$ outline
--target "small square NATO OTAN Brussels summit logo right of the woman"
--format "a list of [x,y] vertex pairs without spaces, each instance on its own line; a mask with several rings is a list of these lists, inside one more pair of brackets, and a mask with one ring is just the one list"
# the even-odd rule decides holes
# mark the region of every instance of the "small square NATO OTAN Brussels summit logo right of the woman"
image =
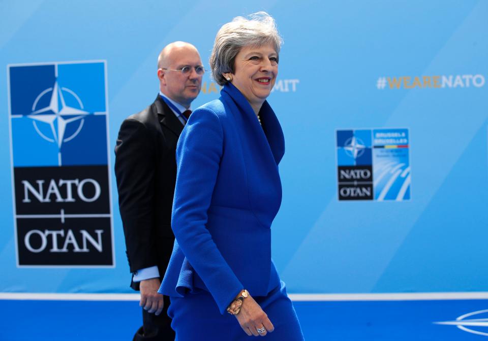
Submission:
[[408,129],[335,133],[339,200],[410,199]]

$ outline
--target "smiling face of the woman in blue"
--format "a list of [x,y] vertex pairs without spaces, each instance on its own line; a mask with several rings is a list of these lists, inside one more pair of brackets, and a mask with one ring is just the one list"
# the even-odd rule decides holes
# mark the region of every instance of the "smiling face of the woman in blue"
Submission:
[[278,76],[278,53],[269,45],[243,47],[235,57],[232,84],[257,112]]

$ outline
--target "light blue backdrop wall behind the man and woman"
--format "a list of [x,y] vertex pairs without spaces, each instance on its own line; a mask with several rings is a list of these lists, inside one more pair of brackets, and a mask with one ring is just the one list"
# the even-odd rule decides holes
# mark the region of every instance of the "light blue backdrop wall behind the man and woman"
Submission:
[[[53,0],[0,2],[0,292],[131,292],[113,174],[120,123],[156,97],[162,47],[175,40],[191,42],[208,67],[220,26],[262,10],[276,18],[285,41],[268,100],[286,141],[280,166],[283,203],[272,227],[272,252],[289,292],[486,291],[487,2]],[[17,199],[14,206],[12,167],[20,165],[17,148],[29,150],[36,142],[34,135],[23,138],[25,131],[35,131],[31,121],[15,122],[31,120],[28,115],[40,110],[41,101],[49,104],[49,93],[56,92],[53,82],[35,88],[32,84],[44,76],[25,69],[27,63],[54,65],[58,92],[67,98],[65,106],[74,108],[68,115],[78,121],[88,112],[103,117],[99,130],[88,130],[85,149],[78,147],[88,151],[88,158],[102,151],[93,163],[108,167],[111,179],[111,187],[106,179],[101,191],[109,194],[112,208],[100,213],[109,238],[102,243],[92,231],[92,242],[84,239],[95,257],[92,265],[52,266],[41,260],[33,266],[32,259],[27,264],[18,258],[25,231],[23,237],[16,231],[28,219],[14,219],[22,202]],[[98,76],[78,71],[67,81],[70,85],[60,84],[61,75],[77,64],[99,65]],[[15,73],[19,70],[25,71],[23,78]],[[105,101],[88,108],[89,96],[81,94],[96,91],[92,87]],[[23,103],[24,93],[28,110],[17,113],[15,103]],[[193,108],[218,96],[207,73]],[[88,129],[90,117],[82,128],[79,123],[71,132],[66,128],[66,134]],[[42,130],[41,123],[38,128],[47,137],[49,129]],[[53,130],[58,139],[59,129]],[[63,146],[76,141],[66,141],[67,136]],[[108,145],[89,142],[94,136]],[[56,149],[57,140],[43,141]],[[56,167],[56,161],[48,165]],[[95,196],[92,189],[87,196]],[[23,189],[17,191],[22,199]],[[43,206],[39,210],[39,215],[49,213]],[[62,226],[64,213],[55,214],[53,221]],[[49,219],[35,221],[27,229],[44,233],[51,228]],[[90,225],[80,224],[80,230]],[[47,242],[52,235],[45,234]],[[31,237],[31,247],[40,249],[40,234]],[[61,248],[68,234],[57,237]],[[109,250],[108,260],[97,263],[95,245],[100,243]],[[56,256],[73,253],[73,241],[67,246]]]

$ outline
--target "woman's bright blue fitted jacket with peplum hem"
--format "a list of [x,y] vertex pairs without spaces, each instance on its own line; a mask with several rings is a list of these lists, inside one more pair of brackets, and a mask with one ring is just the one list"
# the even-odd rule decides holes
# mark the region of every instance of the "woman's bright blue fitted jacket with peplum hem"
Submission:
[[266,133],[230,83],[190,116],[176,148],[176,241],[160,293],[205,290],[224,314],[240,290],[266,296],[280,285],[270,227],[281,205],[285,141],[267,101],[260,117]]

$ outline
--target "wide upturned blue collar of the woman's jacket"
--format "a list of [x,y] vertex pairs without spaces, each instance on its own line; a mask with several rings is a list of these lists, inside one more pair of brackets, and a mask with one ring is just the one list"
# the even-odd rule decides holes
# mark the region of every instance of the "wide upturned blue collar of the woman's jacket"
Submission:
[[272,156],[275,164],[278,165],[285,154],[285,138],[280,122],[278,122],[278,118],[268,102],[264,101],[259,111],[259,116],[266,128],[265,134],[248,100],[234,85],[231,83],[224,85],[221,91],[221,100],[225,101],[233,113],[240,112],[242,114],[242,120],[245,124],[241,128],[245,130],[248,137],[256,139],[263,150],[268,150],[271,154],[269,156]]

